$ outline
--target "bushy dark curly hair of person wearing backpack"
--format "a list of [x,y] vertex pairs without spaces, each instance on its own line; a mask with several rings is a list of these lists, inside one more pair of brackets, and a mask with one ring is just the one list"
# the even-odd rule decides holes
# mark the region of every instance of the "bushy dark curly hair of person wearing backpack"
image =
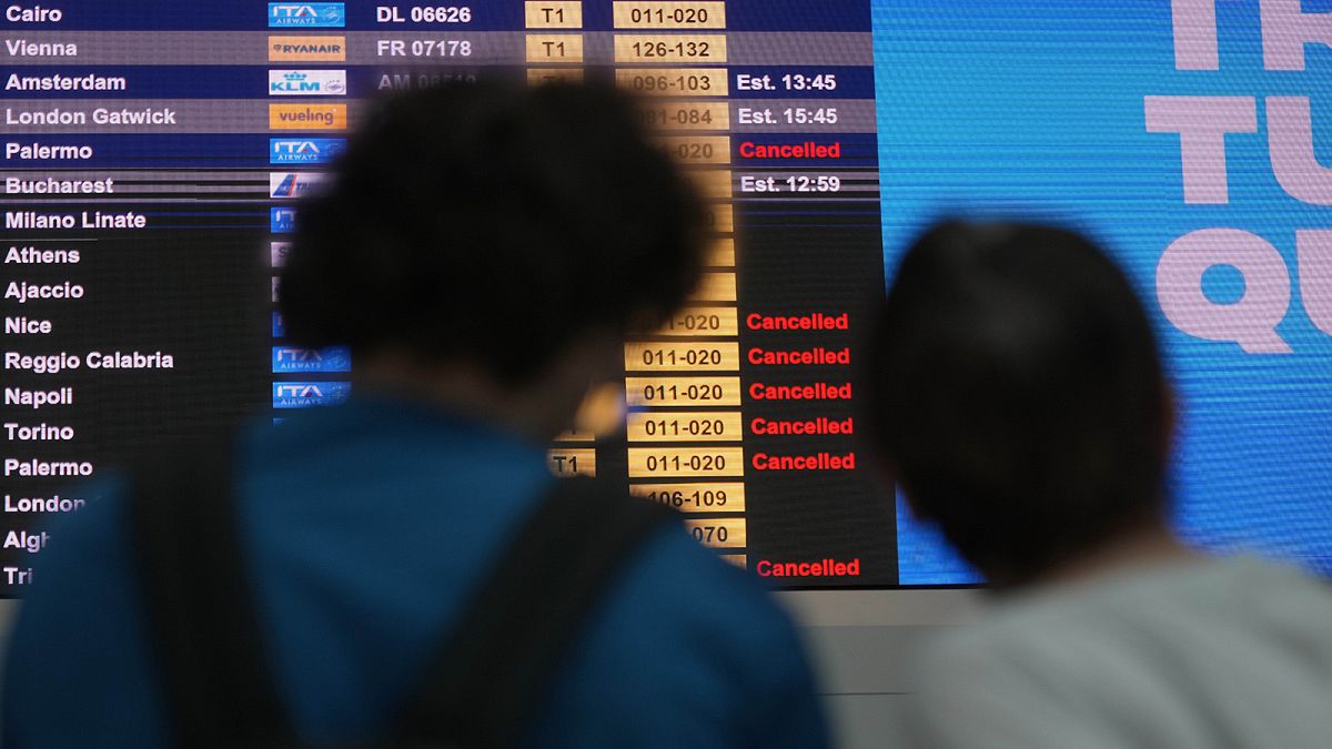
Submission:
[[699,276],[699,199],[610,88],[394,96],[333,172],[281,273],[297,345],[465,359],[518,384],[589,331],[669,315]]

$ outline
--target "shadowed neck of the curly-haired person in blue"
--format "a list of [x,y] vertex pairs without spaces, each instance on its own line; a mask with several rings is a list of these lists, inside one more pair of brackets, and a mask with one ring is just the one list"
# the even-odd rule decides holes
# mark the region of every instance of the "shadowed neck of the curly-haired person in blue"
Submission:
[[[530,440],[549,440],[577,405],[577,393],[557,384],[507,388],[466,363],[422,365],[408,357],[376,355],[357,363],[358,392],[408,397],[461,413]],[[574,405],[566,406],[566,401]]]

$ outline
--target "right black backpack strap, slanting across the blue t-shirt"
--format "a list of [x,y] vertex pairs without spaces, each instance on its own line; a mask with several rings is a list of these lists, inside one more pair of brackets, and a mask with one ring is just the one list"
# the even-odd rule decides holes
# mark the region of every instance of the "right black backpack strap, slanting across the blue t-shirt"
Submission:
[[599,481],[561,480],[482,580],[400,722],[400,745],[511,746],[562,656],[643,541],[679,514]]

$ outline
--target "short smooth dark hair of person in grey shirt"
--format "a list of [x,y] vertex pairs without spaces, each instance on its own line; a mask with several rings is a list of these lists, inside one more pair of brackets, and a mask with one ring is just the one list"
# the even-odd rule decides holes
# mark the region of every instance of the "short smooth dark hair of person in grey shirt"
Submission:
[[1171,405],[1119,268],[1066,229],[947,221],[903,257],[872,433],[918,514],[1022,582],[1163,518]]

